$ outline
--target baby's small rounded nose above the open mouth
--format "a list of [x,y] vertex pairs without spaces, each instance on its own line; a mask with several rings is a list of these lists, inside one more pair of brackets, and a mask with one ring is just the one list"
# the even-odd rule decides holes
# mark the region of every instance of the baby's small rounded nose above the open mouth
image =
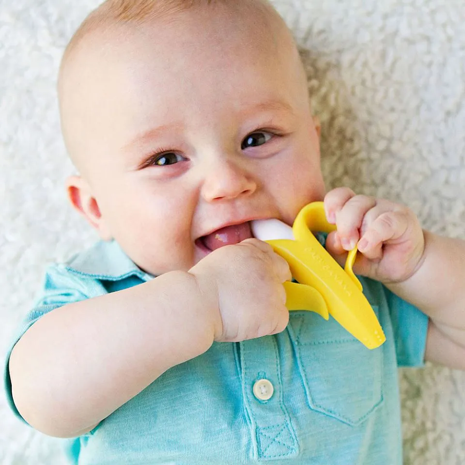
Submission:
[[217,159],[206,170],[202,197],[207,202],[233,200],[250,195],[257,188],[253,175],[241,166],[240,160]]

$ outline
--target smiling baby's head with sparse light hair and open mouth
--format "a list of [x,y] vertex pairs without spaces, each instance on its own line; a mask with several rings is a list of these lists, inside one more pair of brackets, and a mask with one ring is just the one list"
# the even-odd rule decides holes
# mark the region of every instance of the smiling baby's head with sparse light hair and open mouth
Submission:
[[109,0],[68,46],[59,95],[71,202],[151,274],[324,195],[307,79],[264,0]]

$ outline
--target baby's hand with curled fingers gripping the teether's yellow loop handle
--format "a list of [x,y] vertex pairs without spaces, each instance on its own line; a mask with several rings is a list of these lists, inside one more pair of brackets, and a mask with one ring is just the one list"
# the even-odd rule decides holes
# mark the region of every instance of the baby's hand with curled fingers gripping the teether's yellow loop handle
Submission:
[[325,196],[326,218],[337,226],[326,248],[343,264],[346,251],[357,245],[354,272],[385,284],[408,279],[419,267],[424,236],[416,215],[407,207],[338,187]]

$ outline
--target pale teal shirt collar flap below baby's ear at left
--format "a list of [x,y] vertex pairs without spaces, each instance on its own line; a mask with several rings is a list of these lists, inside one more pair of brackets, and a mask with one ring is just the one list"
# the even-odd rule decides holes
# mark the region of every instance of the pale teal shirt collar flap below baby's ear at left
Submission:
[[78,253],[67,263],[67,271],[95,279],[117,281],[137,276],[144,281],[154,276],[141,270],[115,240],[99,241],[91,248]]

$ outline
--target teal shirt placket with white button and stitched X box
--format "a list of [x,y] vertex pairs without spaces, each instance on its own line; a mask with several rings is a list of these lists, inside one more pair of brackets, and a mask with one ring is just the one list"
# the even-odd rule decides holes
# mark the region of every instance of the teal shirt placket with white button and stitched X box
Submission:
[[276,338],[267,336],[239,343],[242,388],[250,418],[254,458],[294,458],[298,443],[283,401]]

